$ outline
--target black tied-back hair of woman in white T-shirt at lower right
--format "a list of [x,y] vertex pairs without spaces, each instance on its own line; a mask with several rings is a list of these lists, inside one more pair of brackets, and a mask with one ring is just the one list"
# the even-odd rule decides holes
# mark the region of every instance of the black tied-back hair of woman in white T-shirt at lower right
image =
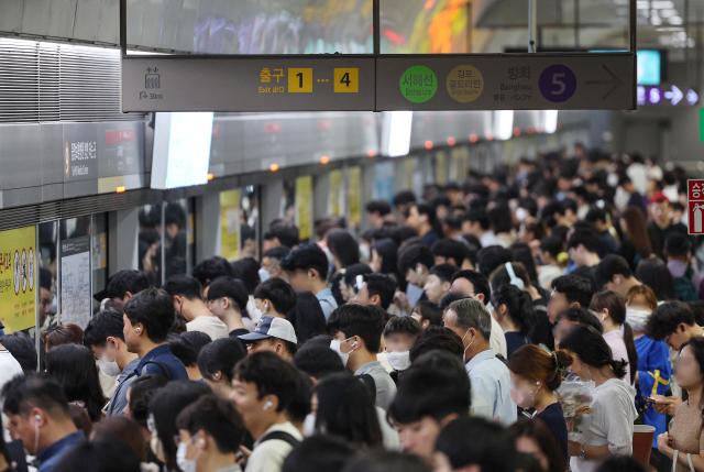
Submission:
[[560,341],[560,349],[570,351],[580,356],[580,360],[595,369],[609,366],[616,378],[626,375],[627,361],[614,361],[612,349],[608,347],[601,332],[592,327],[575,326],[568,336]]

